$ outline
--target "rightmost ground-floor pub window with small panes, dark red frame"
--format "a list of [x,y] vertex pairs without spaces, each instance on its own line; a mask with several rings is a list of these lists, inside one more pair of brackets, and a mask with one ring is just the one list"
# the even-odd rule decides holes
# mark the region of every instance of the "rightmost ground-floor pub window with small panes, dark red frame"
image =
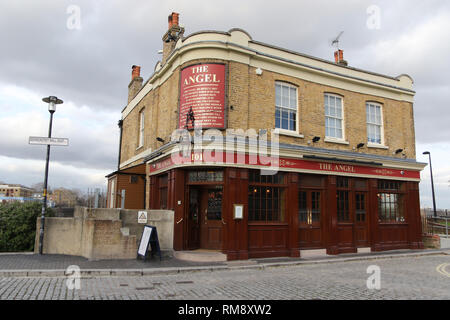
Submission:
[[378,181],[378,219],[380,222],[405,222],[404,196],[402,183],[397,181]]

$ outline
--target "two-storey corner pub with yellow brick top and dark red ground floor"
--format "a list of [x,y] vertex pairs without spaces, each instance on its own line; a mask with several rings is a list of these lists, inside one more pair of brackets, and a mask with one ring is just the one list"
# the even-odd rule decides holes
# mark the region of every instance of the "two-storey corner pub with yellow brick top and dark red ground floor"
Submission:
[[411,77],[178,20],[132,68],[109,207],[172,210],[174,250],[228,260],[423,248]]

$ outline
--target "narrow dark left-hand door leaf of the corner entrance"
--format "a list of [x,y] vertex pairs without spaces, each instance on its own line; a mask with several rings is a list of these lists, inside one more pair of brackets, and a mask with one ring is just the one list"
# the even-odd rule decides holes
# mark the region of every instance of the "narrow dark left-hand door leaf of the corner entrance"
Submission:
[[187,249],[194,250],[200,248],[200,190],[195,187],[189,188],[189,208],[188,208],[188,243]]

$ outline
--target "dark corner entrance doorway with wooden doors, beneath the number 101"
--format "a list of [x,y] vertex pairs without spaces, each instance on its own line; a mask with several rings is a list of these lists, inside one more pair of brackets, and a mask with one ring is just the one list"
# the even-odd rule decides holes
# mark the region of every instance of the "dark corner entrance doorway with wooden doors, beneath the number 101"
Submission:
[[188,249],[222,249],[222,186],[189,187]]

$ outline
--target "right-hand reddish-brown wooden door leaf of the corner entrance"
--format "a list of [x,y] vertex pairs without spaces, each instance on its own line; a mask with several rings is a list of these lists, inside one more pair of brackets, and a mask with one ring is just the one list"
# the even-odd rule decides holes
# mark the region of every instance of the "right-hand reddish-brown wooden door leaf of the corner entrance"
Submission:
[[221,186],[200,189],[200,247],[203,249],[222,249],[222,196]]

